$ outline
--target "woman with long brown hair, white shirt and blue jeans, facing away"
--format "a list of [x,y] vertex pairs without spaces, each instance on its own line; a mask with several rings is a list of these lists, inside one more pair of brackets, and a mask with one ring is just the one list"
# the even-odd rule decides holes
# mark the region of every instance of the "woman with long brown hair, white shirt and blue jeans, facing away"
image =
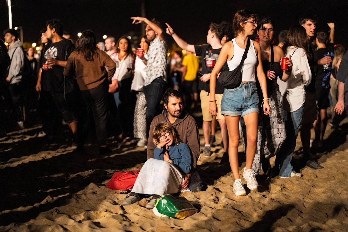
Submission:
[[309,47],[306,30],[301,25],[291,26],[283,46],[286,56],[291,56],[293,62],[292,72],[287,82],[278,80],[282,86],[283,108],[285,112],[286,139],[282,150],[276,157],[276,168],[279,168],[280,178],[293,176],[301,177],[296,173],[291,161],[296,146],[296,138],[301,127],[304,101],[306,92],[304,86],[308,86],[312,80],[308,59],[313,57]]

